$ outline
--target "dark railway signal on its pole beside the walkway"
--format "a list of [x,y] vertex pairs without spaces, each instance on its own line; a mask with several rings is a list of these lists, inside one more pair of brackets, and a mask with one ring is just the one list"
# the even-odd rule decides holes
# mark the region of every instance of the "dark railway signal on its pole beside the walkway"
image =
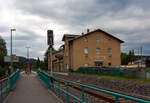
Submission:
[[53,69],[52,69],[52,49],[53,49],[53,30],[47,30],[47,44],[49,45],[49,54],[50,54],[50,69],[49,69],[49,73],[50,75],[53,75]]

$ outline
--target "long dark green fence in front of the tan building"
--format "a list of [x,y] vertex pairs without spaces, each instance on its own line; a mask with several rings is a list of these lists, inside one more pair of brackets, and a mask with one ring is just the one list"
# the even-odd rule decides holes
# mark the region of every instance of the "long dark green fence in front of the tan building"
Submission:
[[81,67],[76,72],[85,74],[145,79],[145,70],[138,69]]

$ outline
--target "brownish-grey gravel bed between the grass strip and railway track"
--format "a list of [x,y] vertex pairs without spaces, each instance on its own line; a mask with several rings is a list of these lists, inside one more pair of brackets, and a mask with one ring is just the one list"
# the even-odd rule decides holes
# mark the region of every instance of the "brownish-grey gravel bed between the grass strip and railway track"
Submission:
[[150,97],[150,83],[135,82],[131,80],[117,80],[104,79],[97,76],[83,76],[76,74],[60,75],[55,74],[56,77],[61,77],[71,81],[81,82],[83,84],[90,84],[99,88],[113,89],[133,96]]

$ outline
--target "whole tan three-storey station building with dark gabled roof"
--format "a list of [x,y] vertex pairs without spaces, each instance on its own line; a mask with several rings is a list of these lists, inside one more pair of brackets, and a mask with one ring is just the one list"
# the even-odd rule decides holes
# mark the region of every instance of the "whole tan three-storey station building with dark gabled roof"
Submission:
[[64,45],[53,52],[53,68],[57,70],[79,67],[120,66],[122,40],[97,29],[82,35],[64,34]]

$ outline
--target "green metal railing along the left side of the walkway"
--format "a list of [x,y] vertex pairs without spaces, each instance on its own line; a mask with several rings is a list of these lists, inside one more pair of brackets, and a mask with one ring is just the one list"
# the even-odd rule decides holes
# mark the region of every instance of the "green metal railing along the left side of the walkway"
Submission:
[[17,69],[16,72],[11,74],[9,77],[0,80],[0,103],[4,102],[4,98],[8,96],[8,92],[13,90],[17,80],[19,79],[20,71]]

